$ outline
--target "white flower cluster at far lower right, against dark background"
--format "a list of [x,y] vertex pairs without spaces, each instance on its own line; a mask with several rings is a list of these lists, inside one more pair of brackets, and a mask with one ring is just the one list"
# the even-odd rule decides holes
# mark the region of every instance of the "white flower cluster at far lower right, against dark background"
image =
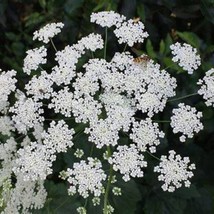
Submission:
[[169,151],[169,157],[162,155],[161,162],[154,168],[154,172],[158,172],[159,181],[163,181],[162,189],[168,192],[174,192],[176,188],[180,188],[183,183],[185,187],[190,187],[189,178],[193,176],[192,170],[195,164],[189,164],[189,157],[181,158],[176,155],[175,151]]

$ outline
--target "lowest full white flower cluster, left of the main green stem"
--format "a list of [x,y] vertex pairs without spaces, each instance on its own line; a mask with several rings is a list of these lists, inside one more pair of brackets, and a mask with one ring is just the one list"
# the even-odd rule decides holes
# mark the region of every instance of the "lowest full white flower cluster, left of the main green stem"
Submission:
[[74,163],[73,169],[67,170],[69,194],[78,192],[84,198],[89,196],[89,192],[94,196],[101,195],[102,181],[106,180],[106,174],[98,159],[89,157],[87,160],[87,162],[81,160],[79,163]]

